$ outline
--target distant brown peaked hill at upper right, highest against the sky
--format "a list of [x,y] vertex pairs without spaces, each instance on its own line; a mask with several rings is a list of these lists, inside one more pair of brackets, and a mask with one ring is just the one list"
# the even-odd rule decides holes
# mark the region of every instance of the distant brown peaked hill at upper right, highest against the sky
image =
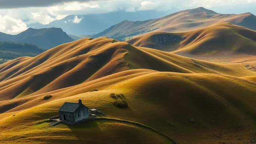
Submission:
[[256,30],[256,16],[251,13],[220,14],[212,10],[198,7],[172,13],[162,18],[146,21],[122,21],[111,26],[102,33],[92,37],[107,36],[122,40],[149,31],[153,32],[184,32],[207,27],[217,23],[233,23]]

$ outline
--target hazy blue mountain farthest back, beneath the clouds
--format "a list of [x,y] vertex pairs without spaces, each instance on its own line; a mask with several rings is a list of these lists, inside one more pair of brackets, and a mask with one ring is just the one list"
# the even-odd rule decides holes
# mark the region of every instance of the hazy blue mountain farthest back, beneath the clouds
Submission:
[[30,24],[33,28],[60,27],[69,34],[76,36],[85,34],[96,34],[121,21],[143,21],[152,18],[160,18],[171,13],[170,11],[146,10],[138,12],[117,11],[103,14],[78,15],[83,18],[80,23],[73,23],[75,15],[69,15],[61,20],[53,21],[50,24]]

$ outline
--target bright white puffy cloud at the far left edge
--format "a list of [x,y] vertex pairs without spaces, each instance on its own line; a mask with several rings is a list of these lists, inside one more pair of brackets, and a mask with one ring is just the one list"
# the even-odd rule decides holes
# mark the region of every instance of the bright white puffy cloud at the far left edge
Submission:
[[8,34],[17,34],[28,27],[23,21],[11,18],[7,15],[0,15],[0,31]]

